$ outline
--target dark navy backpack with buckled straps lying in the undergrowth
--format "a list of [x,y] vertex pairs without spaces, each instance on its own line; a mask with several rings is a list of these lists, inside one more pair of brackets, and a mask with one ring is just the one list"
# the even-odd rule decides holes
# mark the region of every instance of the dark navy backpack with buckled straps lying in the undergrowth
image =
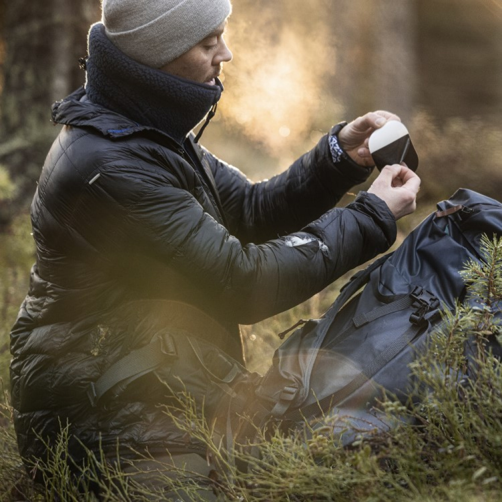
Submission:
[[[394,252],[352,277],[320,319],[283,342],[247,415],[290,426],[343,417],[344,444],[355,431],[392,427],[378,401],[384,392],[408,400],[409,363],[440,322],[440,310],[464,300],[459,271],[480,260],[482,234],[502,235],[502,204],[466,189],[438,203]],[[496,340],[489,343],[500,354]]]

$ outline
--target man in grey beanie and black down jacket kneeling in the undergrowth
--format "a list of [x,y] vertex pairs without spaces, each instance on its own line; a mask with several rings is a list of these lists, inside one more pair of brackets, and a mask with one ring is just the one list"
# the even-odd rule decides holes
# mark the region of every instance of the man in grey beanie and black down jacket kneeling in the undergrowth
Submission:
[[[415,208],[419,178],[395,165],[333,209],[371,173],[367,139],[397,119],[388,112],[335,126],[261,183],[199,145],[191,131],[210,119],[232,57],[230,11],[229,0],[104,0],[85,87],[53,106],[64,127],[33,199],[37,261],[11,337],[25,459],[45,457],[42,438],[54,443],[68,424],[77,462],[82,446],[106,458],[167,449],[202,460],[202,445],[159,406],[173,402],[167,363],[138,363],[128,378],[122,364],[118,385],[103,375],[171,328],[178,350],[188,333],[242,362],[239,324],[289,309],[384,252]],[[181,379],[197,375],[187,359]]]

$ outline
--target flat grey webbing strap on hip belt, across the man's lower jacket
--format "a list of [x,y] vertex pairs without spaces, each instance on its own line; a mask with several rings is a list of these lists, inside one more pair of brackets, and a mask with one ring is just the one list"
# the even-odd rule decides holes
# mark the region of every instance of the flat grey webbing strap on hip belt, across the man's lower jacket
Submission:
[[96,406],[104,394],[115,385],[120,382],[130,383],[140,378],[166,363],[169,356],[176,356],[176,347],[172,336],[168,333],[144,347],[131,351],[113,363],[96,382],[89,384],[87,396],[92,406]]

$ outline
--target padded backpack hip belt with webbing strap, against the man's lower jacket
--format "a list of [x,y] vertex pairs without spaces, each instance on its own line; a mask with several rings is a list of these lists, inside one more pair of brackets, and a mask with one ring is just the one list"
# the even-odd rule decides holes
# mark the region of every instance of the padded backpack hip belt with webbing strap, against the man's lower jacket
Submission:
[[[229,384],[245,371],[242,365],[219,348],[227,346],[231,339],[225,328],[192,305],[173,300],[135,300],[114,311],[111,319],[113,323],[120,320],[117,329],[128,331],[129,339],[141,339],[147,335],[151,338],[149,343],[133,350],[124,344],[118,359],[109,367],[103,368],[95,382],[87,385],[85,392],[92,406],[97,406],[99,400],[111,389],[114,397],[117,397],[141,376],[162,365],[169,368],[178,363],[178,352],[183,353],[186,345],[190,347],[198,360],[197,364],[206,371],[208,378],[227,390],[227,393]],[[221,352],[212,361],[214,364],[209,364],[213,371],[204,362],[202,342],[213,346],[217,353]],[[222,378],[214,373],[214,367],[217,367],[218,374],[223,375]]]

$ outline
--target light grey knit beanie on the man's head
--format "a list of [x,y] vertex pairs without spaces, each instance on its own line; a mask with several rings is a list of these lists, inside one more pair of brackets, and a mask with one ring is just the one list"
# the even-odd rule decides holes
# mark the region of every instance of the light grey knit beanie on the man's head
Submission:
[[230,15],[230,0],[103,0],[110,41],[130,58],[160,68],[197,45]]

